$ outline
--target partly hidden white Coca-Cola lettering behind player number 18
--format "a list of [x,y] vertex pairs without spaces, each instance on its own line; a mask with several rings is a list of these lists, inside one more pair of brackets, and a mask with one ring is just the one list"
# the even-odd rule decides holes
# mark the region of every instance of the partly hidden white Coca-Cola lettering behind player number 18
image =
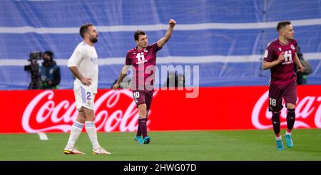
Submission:
[[[252,111],[252,124],[258,129],[272,128],[272,112],[268,111],[268,93],[265,92],[256,102]],[[310,128],[307,120],[314,118],[315,127],[321,128],[321,97],[305,96],[301,100],[297,97],[297,104],[295,107],[295,124],[294,127]],[[282,104],[285,106],[284,102]],[[315,115],[315,116],[313,116]],[[281,126],[286,126],[287,109],[282,108],[280,119]],[[311,123],[311,122],[310,122]]]

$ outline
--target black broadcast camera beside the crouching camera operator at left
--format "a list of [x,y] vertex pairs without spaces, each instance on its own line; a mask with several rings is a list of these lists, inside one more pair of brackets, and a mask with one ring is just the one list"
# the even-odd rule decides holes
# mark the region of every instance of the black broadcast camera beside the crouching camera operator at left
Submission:
[[41,88],[39,64],[37,63],[37,60],[41,60],[41,58],[42,52],[32,52],[28,59],[28,61],[30,61],[29,65],[24,66],[24,71],[31,75],[31,83],[29,83],[28,87],[29,90],[37,90]]

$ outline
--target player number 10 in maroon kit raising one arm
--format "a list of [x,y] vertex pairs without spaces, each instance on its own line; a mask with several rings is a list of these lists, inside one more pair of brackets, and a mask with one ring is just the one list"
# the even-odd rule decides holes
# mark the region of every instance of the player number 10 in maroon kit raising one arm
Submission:
[[[165,43],[170,39],[173,33],[176,22],[170,19],[169,27],[165,36],[148,46],[148,38],[144,31],[136,31],[134,38],[137,43],[136,48],[128,51],[126,56],[126,63],[121,70],[117,83],[113,85],[113,89],[117,90],[123,78],[126,77],[128,67],[133,68],[133,78],[131,78],[131,90],[133,91],[133,98],[138,107],[138,129],[135,140],[139,144],[148,144],[151,142],[151,137],[147,134],[147,115],[151,108],[153,99],[153,78],[156,66],[156,53],[161,50]],[[142,137],[143,136],[143,137]]]

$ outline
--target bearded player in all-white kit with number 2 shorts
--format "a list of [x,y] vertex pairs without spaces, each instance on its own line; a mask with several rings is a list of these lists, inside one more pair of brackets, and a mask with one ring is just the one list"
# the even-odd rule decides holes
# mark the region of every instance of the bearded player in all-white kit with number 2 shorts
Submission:
[[93,101],[98,86],[98,56],[93,44],[98,41],[98,31],[93,24],[88,23],[81,26],[79,33],[83,41],[78,44],[68,60],[68,68],[75,77],[73,91],[78,116],[73,122],[63,152],[64,154],[85,154],[75,149],[76,141],[83,130],[83,125],[85,125],[88,137],[93,144],[93,154],[111,154],[98,143],[94,122]]

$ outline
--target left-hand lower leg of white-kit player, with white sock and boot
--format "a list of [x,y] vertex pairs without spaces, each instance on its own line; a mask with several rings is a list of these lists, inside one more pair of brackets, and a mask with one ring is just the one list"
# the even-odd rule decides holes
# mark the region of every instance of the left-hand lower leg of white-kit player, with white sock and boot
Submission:
[[84,154],[83,152],[80,152],[79,150],[75,149],[75,144],[79,135],[81,134],[81,131],[83,130],[83,124],[85,123],[85,121],[85,113],[83,112],[83,110],[79,110],[78,116],[76,120],[73,122],[73,125],[71,126],[69,139],[65,147],[65,150],[63,151],[65,154]]

